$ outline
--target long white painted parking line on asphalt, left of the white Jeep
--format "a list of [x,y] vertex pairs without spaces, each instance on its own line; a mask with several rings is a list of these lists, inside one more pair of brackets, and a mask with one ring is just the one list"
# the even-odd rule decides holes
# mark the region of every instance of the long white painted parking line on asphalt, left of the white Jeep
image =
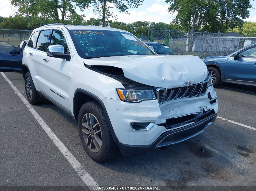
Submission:
[[5,80],[10,84],[12,89],[16,92],[18,97],[22,100],[28,110],[35,117],[40,126],[45,130],[46,134],[51,138],[52,142],[57,146],[57,148],[61,151],[63,156],[68,160],[71,166],[75,169],[81,179],[84,181],[86,186],[98,186],[95,180],[90,176],[88,172],[86,172],[85,168],[78,162],[78,160],[73,156],[73,154],[68,151],[68,148],[61,142],[61,140],[55,135],[55,133],[50,129],[50,127],[44,122],[44,120],[38,115],[38,113],[34,110],[34,108],[28,103],[26,98],[19,93],[18,89],[13,85],[13,83],[7,78],[7,76],[0,72]]

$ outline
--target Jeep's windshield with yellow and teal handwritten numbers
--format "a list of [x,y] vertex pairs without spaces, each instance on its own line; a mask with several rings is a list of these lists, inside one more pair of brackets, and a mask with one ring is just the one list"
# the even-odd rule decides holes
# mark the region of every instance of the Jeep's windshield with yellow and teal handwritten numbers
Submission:
[[78,55],[82,58],[126,55],[154,55],[137,37],[111,30],[69,30]]

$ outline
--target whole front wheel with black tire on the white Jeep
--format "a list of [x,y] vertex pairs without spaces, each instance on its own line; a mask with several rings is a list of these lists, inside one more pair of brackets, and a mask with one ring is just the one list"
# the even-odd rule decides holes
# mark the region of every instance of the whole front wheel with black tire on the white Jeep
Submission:
[[81,143],[92,160],[106,162],[120,153],[105,113],[97,101],[87,102],[81,107],[78,114],[78,132]]

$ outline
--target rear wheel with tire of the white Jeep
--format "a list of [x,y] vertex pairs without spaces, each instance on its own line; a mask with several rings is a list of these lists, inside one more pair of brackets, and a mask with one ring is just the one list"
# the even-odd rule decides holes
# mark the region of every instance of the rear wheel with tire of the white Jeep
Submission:
[[32,105],[40,104],[44,101],[44,97],[40,96],[36,89],[35,85],[32,81],[31,75],[29,72],[25,75],[25,92],[28,98],[28,102]]

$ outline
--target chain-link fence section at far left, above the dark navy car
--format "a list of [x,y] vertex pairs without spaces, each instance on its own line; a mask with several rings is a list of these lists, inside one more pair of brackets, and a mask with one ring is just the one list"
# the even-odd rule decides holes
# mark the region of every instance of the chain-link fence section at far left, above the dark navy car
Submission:
[[18,46],[23,40],[28,40],[32,30],[0,29],[0,40]]

